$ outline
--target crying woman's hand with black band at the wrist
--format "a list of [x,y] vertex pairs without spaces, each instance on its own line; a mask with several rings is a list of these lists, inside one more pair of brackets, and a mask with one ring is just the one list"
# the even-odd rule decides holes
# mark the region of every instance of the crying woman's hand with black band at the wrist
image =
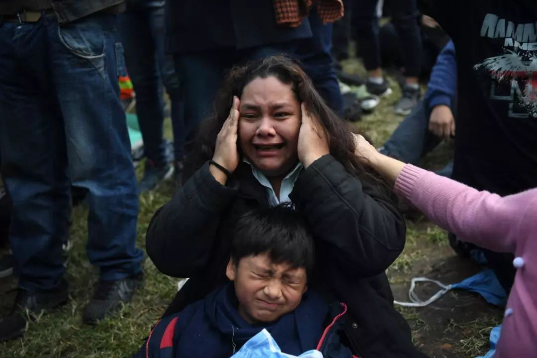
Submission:
[[[233,105],[229,110],[229,116],[216,137],[216,146],[213,155],[213,160],[226,168],[230,173],[233,173],[238,165],[237,128],[239,104],[240,100],[238,97],[233,96]],[[226,184],[228,178],[224,172],[214,165],[210,165],[209,170],[213,174],[213,177],[222,185]]]

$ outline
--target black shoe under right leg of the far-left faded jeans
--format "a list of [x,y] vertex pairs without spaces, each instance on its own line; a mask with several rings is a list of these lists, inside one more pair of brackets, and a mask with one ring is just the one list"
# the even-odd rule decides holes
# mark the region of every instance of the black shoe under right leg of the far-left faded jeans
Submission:
[[134,291],[140,288],[142,283],[142,272],[121,280],[102,280],[97,282],[95,293],[82,313],[82,322],[97,324],[99,320],[118,311],[123,303],[130,302]]

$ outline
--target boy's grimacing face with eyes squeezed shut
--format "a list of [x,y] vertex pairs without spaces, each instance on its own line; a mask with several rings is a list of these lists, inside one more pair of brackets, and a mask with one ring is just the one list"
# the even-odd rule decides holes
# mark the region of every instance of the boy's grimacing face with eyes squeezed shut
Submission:
[[266,253],[237,265],[229,260],[226,275],[235,284],[238,313],[250,324],[270,323],[293,311],[308,289],[306,269],[274,264]]

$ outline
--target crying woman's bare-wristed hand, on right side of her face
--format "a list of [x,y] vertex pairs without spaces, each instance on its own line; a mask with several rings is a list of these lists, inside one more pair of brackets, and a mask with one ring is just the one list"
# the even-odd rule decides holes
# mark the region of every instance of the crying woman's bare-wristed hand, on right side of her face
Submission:
[[304,167],[310,166],[315,160],[329,154],[328,137],[321,121],[312,116],[306,104],[302,103],[302,125],[300,126],[298,155],[299,160]]

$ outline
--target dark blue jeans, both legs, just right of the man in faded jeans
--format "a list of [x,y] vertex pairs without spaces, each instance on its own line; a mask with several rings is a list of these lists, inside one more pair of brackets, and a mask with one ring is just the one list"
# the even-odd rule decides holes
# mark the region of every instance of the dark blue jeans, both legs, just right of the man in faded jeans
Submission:
[[174,156],[184,155],[183,103],[173,59],[164,53],[164,8],[139,7],[119,17],[128,74],[136,93],[136,114],[144,153],[157,166],[168,162],[163,137],[162,84],[171,101]]

